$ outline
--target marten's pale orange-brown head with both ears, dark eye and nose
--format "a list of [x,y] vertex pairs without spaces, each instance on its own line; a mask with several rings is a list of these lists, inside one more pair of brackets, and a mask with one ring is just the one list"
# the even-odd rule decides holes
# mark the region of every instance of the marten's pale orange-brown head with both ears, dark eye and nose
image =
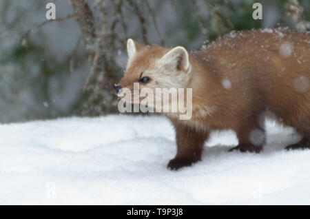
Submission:
[[[156,95],[156,88],[186,88],[191,65],[185,48],[164,48],[157,45],[141,45],[132,39],[127,41],[128,61],[123,79],[115,85],[116,95],[123,97],[125,90],[134,95],[134,84],[138,90],[145,88]],[[125,89],[126,88],[126,89]],[[126,98],[127,99],[127,98]],[[130,98],[133,100],[133,98]],[[136,101],[127,101],[136,103]],[[141,98],[138,98],[141,101]],[[136,99],[137,100],[137,99]],[[139,101],[139,102],[140,102]]]

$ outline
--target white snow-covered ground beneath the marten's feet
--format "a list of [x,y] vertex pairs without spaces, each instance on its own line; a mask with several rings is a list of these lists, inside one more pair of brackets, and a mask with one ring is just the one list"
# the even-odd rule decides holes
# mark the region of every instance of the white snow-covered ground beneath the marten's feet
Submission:
[[0,125],[0,204],[309,205],[310,150],[286,152],[293,129],[266,125],[261,154],[229,153],[234,132],[215,133],[179,171],[166,168],[176,145],[161,116]]

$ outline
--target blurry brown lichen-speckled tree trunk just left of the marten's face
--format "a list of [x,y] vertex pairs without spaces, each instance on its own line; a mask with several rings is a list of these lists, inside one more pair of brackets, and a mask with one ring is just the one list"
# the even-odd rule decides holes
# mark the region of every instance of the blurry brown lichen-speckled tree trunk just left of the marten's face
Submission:
[[114,84],[112,75],[118,69],[112,59],[115,38],[112,37],[113,34],[107,26],[105,1],[101,1],[99,5],[100,25],[97,25],[94,14],[86,1],[70,0],[70,3],[76,13],[76,22],[81,29],[85,50],[92,68],[83,87],[83,91],[88,92],[90,97],[83,104],[81,114],[96,116],[102,112],[114,112],[116,105],[112,104],[115,99],[112,92]]

